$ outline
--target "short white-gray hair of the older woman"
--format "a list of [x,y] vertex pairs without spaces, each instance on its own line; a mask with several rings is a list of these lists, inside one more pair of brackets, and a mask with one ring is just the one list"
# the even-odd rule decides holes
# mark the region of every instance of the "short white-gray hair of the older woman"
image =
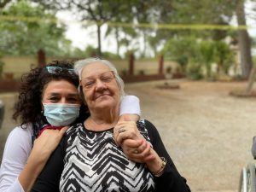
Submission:
[[117,84],[119,86],[120,99],[122,100],[123,97],[125,96],[125,90],[124,90],[125,84],[124,84],[124,81],[123,81],[123,79],[120,78],[117,69],[108,60],[102,60],[100,58],[88,58],[88,59],[76,61],[74,63],[74,71],[75,71],[75,73],[77,73],[79,75],[79,79],[80,80],[82,79],[82,72],[83,72],[84,67],[88,66],[88,65],[90,65],[92,63],[95,63],[95,62],[100,62],[100,63],[108,66],[110,68],[110,70],[113,71],[115,80],[116,80],[116,82],[117,82]]

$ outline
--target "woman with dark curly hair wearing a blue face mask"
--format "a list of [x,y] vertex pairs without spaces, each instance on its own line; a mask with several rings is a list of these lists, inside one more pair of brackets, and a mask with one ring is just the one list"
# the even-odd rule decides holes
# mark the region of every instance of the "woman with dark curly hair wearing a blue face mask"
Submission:
[[[1,192],[30,191],[67,125],[88,117],[87,108],[79,99],[78,85],[73,63],[68,61],[53,61],[22,78],[13,115],[14,119],[20,118],[21,125],[11,131],[5,144]],[[125,96],[120,114],[125,113],[140,113],[137,97]],[[129,115],[129,119],[137,120],[138,116]]]

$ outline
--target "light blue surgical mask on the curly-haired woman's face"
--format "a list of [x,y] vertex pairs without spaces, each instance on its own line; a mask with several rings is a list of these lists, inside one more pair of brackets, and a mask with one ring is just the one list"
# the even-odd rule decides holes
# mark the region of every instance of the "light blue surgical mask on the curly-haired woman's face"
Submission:
[[44,116],[50,125],[66,126],[72,124],[79,117],[78,104],[43,103]]

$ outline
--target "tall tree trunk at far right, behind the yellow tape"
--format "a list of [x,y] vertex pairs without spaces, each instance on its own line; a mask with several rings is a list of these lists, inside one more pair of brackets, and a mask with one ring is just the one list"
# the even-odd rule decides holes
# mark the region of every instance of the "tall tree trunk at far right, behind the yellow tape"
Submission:
[[[236,5],[236,18],[238,26],[247,25],[243,3],[243,0],[238,0]],[[238,44],[241,55],[241,75],[243,78],[247,79],[253,67],[251,55],[251,40],[249,38],[247,29],[242,29],[238,31]]]

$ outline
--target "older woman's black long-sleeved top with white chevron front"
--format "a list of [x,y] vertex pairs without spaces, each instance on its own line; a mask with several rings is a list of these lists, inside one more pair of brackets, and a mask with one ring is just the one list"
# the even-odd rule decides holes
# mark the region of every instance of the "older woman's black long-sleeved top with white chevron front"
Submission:
[[113,141],[113,129],[89,131],[84,124],[77,124],[67,131],[50,156],[32,192],[190,191],[154,125],[140,120],[137,127],[156,153],[166,158],[162,176],[154,177],[143,164],[128,160]]

